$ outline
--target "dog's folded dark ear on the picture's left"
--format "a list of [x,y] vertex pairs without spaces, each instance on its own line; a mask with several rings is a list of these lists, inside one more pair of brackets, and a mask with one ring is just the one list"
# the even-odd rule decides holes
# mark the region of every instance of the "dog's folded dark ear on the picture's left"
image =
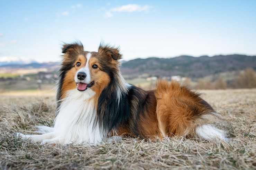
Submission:
[[63,44],[62,53],[64,53],[64,57],[68,57],[70,55],[79,55],[84,51],[83,44],[79,42],[74,42],[71,44]]

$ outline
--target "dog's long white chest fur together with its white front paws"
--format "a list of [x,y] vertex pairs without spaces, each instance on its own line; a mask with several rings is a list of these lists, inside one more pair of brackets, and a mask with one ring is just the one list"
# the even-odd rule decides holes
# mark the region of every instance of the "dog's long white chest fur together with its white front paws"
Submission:
[[45,143],[99,143],[106,140],[106,134],[96,123],[96,108],[93,100],[95,92],[91,89],[85,92],[76,89],[67,92],[62,101],[54,127],[40,126],[40,135],[22,135],[22,138],[31,138],[34,142]]

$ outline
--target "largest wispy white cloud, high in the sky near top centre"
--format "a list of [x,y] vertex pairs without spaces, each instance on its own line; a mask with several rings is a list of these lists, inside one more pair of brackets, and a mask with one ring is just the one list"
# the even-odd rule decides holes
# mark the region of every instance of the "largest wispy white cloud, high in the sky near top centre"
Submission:
[[111,8],[108,11],[106,11],[104,17],[109,18],[113,17],[114,12],[147,12],[148,10],[152,9],[152,7],[148,5],[140,6],[138,4],[128,4],[123,5],[121,7]]

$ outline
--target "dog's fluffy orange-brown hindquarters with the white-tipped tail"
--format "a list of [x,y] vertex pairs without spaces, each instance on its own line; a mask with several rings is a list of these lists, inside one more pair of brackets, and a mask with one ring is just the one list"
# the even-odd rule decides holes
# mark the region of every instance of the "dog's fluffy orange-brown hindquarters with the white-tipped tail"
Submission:
[[227,141],[232,126],[202,98],[177,81],[156,84],[159,131],[166,136],[185,136]]

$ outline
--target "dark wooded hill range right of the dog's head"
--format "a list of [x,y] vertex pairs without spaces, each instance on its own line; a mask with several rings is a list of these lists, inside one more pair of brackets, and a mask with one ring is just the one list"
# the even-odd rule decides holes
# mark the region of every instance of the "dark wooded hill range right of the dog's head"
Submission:
[[[124,75],[147,73],[152,76],[182,76],[201,78],[215,73],[238,71],[251,67],[256,70],[256,56],[180,56],[175,58],[147,58],[130,60],[122,64]],[[132,76],[134,77],[134,76]]]

